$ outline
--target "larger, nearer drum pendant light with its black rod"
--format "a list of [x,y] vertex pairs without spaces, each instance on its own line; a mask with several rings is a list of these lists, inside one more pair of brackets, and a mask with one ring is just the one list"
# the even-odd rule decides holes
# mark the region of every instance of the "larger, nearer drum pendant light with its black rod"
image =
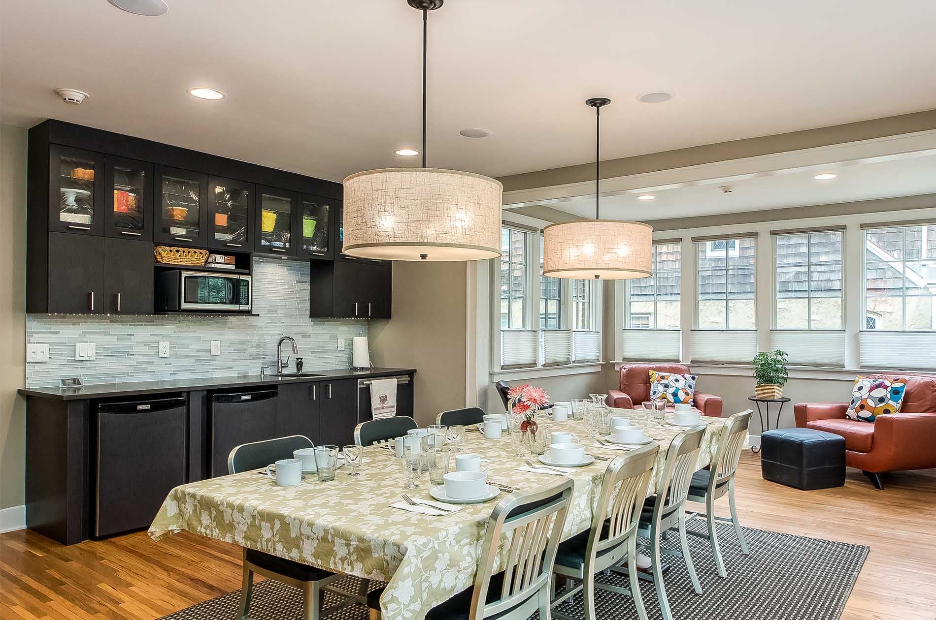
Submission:
[[443,0],[422,11],[422,167],[358,172],[344,180],[343,252],[400,261],[474,261],[501,255],[500,181],[426,167],[426,33]]

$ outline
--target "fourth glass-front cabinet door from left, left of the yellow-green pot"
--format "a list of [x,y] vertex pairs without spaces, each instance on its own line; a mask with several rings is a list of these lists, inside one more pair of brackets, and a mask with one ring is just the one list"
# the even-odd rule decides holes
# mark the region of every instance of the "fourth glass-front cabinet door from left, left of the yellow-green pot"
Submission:
[[209,177],[208,245],[219,250],[253,250],[256,186]]

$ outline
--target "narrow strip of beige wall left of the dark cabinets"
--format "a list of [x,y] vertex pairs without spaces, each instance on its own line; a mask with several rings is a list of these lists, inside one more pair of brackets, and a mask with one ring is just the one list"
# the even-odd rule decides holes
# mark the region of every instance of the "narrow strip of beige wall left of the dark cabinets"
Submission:
[[0,509],[24,502],[26,130],[0,126]]

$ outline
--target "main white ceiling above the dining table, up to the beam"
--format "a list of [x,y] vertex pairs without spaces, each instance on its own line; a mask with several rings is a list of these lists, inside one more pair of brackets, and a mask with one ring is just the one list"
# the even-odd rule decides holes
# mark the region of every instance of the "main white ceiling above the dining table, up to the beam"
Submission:
[[[144,18],[106,0],[3,0],[0,120],[53,117],[332,180],[415,164],[392,153],[419,141],[420,16],[405,0],[168,4]],[[936,108],[934,22],[921,0],[447,0],[430,15],[429,165],[503,176],[588,162],[594,95],[614,100],[605,158]],[[228,97],[199,101],[194,86]],[[91,98],[67,107],[56,87]],[[657,90],[676,96],[636,102]]]

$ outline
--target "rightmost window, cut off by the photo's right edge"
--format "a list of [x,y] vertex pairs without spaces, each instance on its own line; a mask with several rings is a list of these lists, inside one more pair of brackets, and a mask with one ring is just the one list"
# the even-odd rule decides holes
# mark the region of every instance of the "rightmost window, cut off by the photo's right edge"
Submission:
[[862,225],[861,366],[936,368],[936,224]]

